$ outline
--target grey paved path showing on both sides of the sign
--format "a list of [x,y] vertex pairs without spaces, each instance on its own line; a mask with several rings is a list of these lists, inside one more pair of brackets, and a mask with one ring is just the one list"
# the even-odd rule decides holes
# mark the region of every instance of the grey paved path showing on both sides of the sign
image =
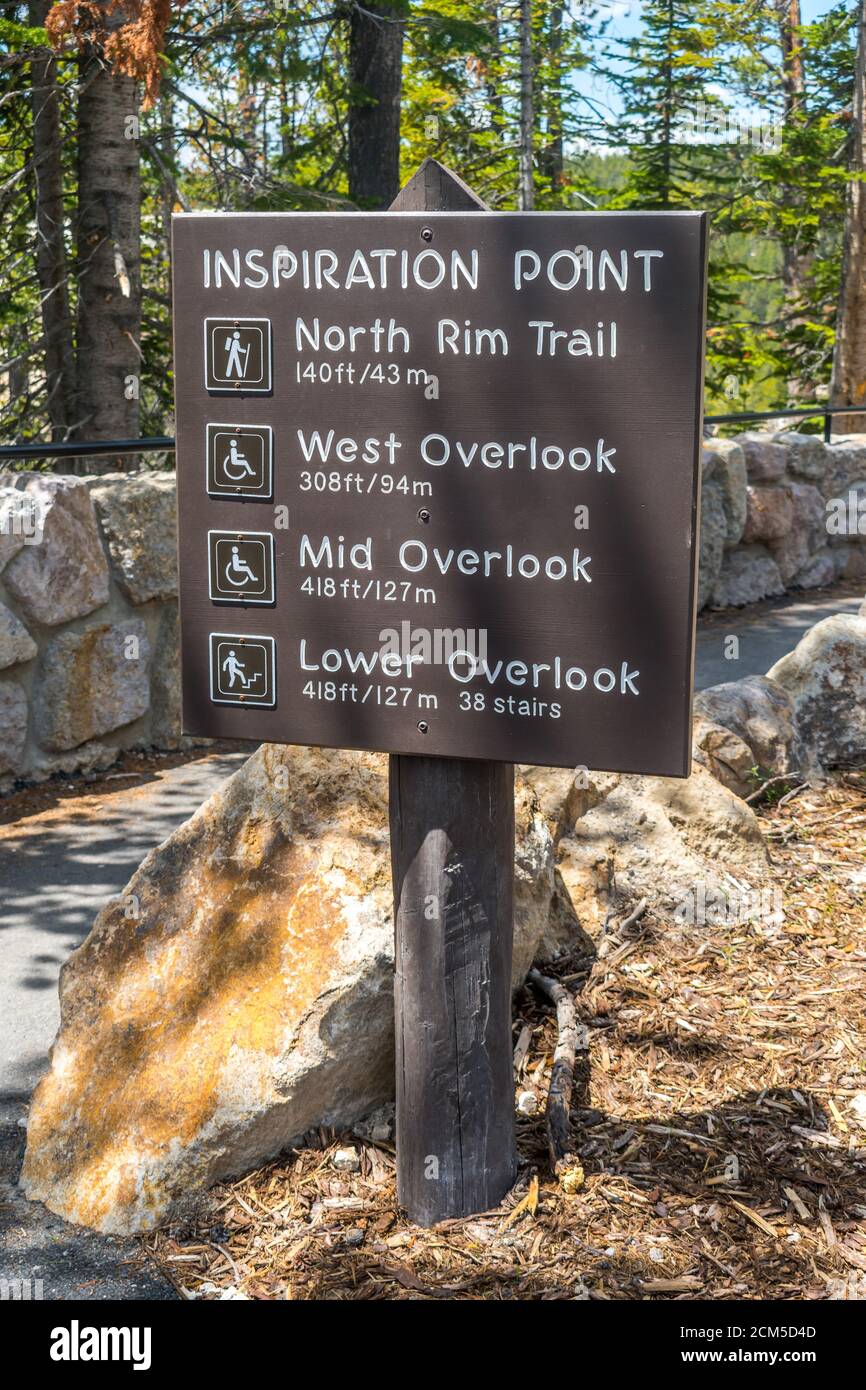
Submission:
[[[714,616],[698,637],[698,688],[763,674],[819,619],[855,613],[859,596],[802,596],[766,610]],[[737,660],[726,638],[740,638]],[[111,777],[99,791],[0,826],[0,1277],[42,1269],[46,1297],[171,1297],[153,1276],[121,1262],[135,1245],[74,1232],[13,1187],[29,1093],[57,1031],[57,974],[107,898],[243,762],[211,753],[142,777]],[[4,1209],[6,1208],[6,1222]],[[65,1275],[64,1275],[65,1270]],[[83,1270],[83,1275],[82,1275]],[[49,1283],[53,1280],[53,1291]]]

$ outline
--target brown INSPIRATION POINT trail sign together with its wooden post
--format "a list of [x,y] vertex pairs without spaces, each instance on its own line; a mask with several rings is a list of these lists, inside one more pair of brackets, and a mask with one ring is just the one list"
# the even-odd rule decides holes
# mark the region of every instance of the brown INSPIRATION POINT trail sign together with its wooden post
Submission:
[[421,1222],[516,1170],[513,763],[688,774],[705,260],[432,160],[388,214],[175,218],[185,730],[392,753]]

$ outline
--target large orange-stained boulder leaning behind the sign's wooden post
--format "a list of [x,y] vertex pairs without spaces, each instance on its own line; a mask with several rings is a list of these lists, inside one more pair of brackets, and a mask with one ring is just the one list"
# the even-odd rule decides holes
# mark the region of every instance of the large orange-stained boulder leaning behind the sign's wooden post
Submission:
[[[143,862],[61,974],[22,1184],[68,1220],[152,1227],[314,1125],[393,1093],[386,762],[265,745]],[[553,891],[517,796],[516,965]]]

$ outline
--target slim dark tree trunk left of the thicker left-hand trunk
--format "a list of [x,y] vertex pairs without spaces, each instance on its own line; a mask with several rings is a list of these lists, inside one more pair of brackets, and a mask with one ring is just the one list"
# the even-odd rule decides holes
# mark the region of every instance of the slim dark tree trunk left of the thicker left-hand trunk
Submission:
[[[31,0],[29,22],[42,28],[51,0]],[[75,423],[75,359],[67,285],[63,227],[63,146],[57,61],[50,49],[36,50],[31,64],[33,111],[33,185],[36,196],[36,279],[47,414],[51,438],[65,439]]]

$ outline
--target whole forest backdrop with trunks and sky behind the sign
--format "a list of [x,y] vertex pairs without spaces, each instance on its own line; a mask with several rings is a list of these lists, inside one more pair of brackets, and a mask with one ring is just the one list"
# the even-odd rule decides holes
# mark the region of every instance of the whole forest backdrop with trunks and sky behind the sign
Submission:
[[172,211],[386,207],[425,156],[706,208],[708,410],[866,403],[866,0],[31,0],[0,44],[3,443],[174,432]]

